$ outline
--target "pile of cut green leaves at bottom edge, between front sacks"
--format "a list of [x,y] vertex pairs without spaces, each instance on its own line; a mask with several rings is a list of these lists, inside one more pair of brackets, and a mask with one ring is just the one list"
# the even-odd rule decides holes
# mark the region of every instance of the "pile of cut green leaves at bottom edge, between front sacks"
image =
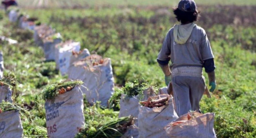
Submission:
[[81,129],[75,138],[120,138],[133,124],[133,117],[121,117],[105,124]]

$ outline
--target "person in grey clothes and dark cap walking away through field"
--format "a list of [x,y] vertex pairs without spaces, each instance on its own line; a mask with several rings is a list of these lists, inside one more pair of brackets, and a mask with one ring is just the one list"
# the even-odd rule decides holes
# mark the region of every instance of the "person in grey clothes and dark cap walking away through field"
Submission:
[[177,114],[181,116],[190,110],[200,112],[199,101],[205,91],[203,67],[208,74],[210,92],[215,90],[215,65],[204,29],[194,24],[199,14],[195,2],[181,0],[173,12],[181,24],[167,33],[157,62],[165,74],[166,85],[172,82]]

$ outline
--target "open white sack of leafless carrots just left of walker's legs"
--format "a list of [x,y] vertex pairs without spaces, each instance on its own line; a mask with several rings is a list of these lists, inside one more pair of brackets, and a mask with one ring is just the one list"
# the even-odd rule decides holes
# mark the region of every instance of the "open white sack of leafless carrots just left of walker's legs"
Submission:
[[168,137],[164,127],[178,118],[174,110],[173,97],[168,94],[153,96],[140,104],[139,138]]

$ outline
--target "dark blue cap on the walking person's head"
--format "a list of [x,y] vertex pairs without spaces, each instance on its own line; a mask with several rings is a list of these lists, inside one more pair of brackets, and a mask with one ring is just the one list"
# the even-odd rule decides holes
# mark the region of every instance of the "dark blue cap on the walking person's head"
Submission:
[[178,9],[184,12],[195,12],[196,5],[193,0],[181,0]]

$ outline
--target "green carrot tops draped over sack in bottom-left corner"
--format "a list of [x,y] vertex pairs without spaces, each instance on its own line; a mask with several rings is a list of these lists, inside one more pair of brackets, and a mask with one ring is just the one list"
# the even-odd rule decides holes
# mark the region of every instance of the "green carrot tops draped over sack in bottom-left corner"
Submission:
[[13,104],[9,102],[2,102],[0,103],[0,113],[5,111],[13,111],[18,110],[20,111],[20,114],[23,116],[26,116],[28,119],[31,120],[31,115],[29,111],[21,104]]

